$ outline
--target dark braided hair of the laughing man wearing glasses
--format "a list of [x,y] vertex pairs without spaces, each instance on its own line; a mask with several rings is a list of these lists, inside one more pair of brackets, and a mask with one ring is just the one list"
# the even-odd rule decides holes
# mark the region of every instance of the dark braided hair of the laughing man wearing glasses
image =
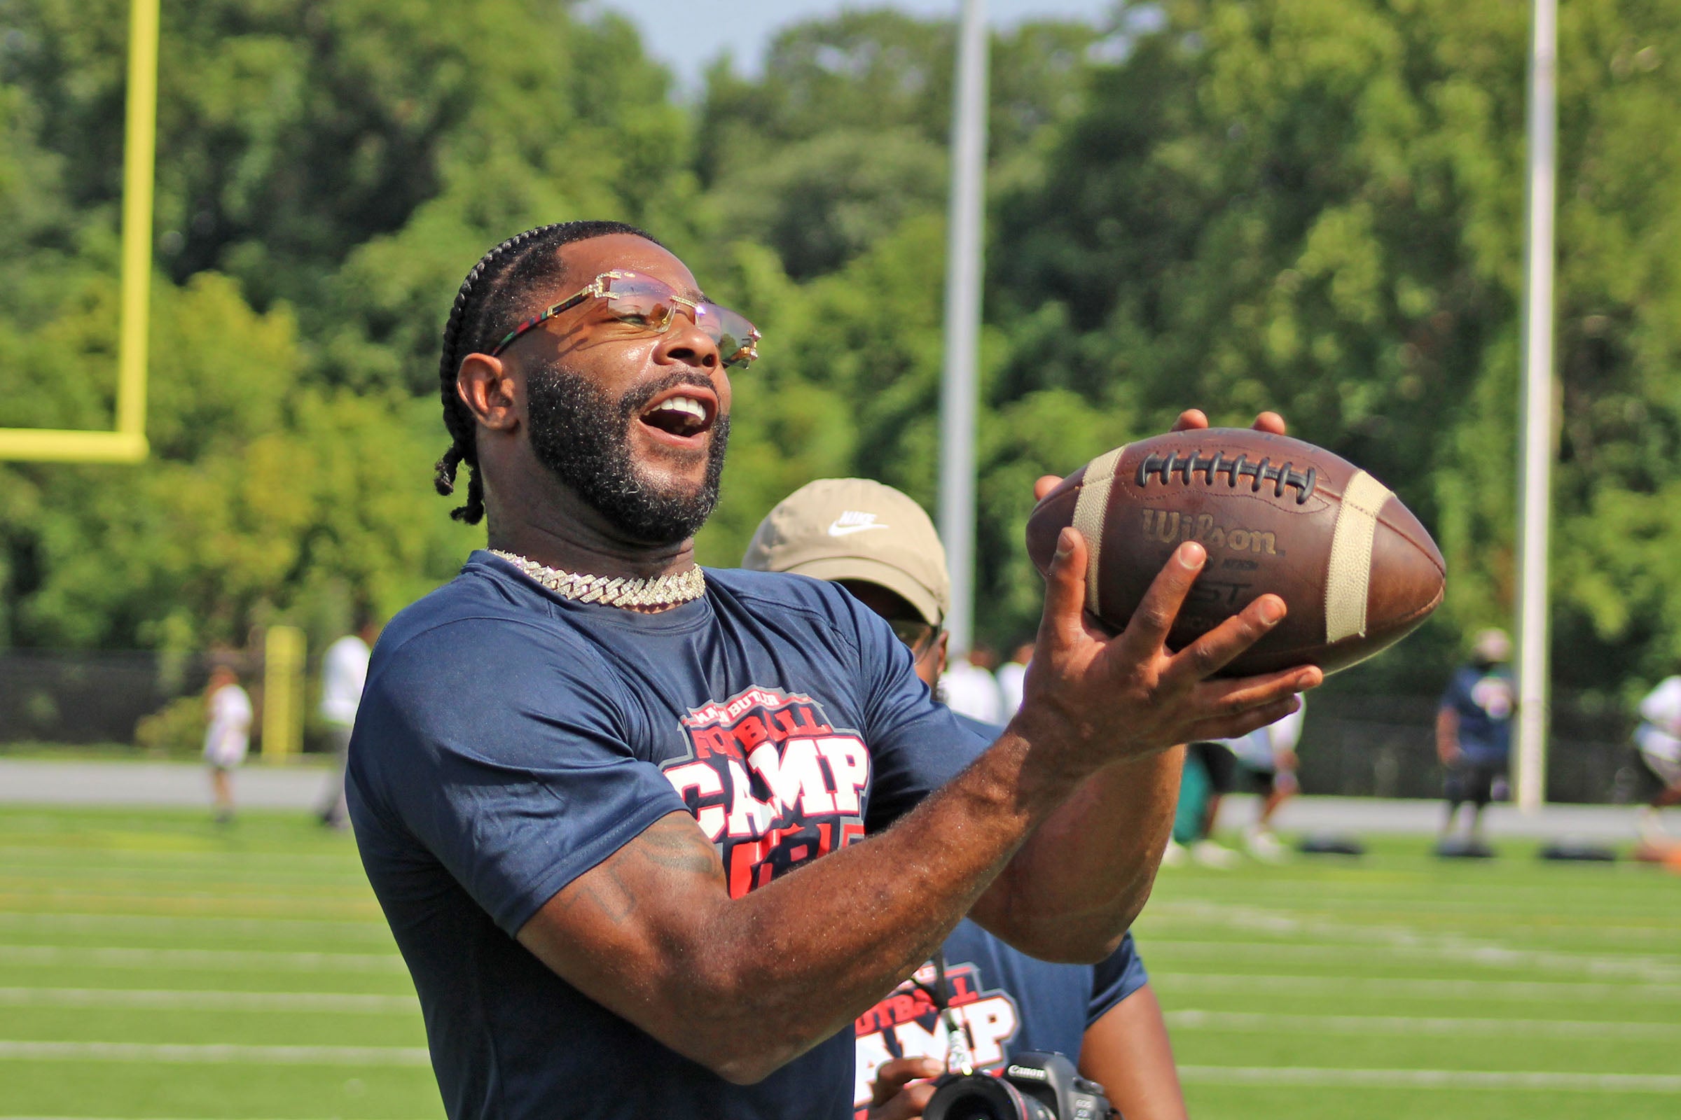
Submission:
[[456,391],[456,376],[467,354],[496,346],[524,317],[531,292],[560,279],[563,265],[558,249],[572,242],[630,233],[659,245],[659,240],[624,222],[555,222],[516,233],[479,257],[472,272],[456,292],[444,326],[444,356],[439,359],[439,390],[444,398],[444,427],[449,450],[437,460],[432,485],[444,497],[456,492],[456,470],[467,463],[467,504],[451,510],[451,517],[469,526],[484,517],[484,482],[479,479],[477,425]]

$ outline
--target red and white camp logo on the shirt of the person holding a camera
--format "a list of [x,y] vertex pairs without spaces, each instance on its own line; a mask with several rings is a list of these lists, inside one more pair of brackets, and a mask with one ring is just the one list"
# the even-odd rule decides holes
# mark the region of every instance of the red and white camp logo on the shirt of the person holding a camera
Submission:
[[[933,987],[935,966],[925,964],[913,977]],[[1004,1068],[1004,1046],[1015,1038],[1020,1014],[1015,999],[1004,991],[983,991],[980,971],[973,964],[948,964],[946,984],[951,1011],[967,1028],[977,1070],[995,1073]],[[901,984],[891,996],[866,1011],[854,1024],[857,1034],[857,1081],[852,1107],[862,1120],[869,1108],[876,1070],[893,1058],[946,1060],[946,1024],[935,1011],[935,1001],[913,982]]]

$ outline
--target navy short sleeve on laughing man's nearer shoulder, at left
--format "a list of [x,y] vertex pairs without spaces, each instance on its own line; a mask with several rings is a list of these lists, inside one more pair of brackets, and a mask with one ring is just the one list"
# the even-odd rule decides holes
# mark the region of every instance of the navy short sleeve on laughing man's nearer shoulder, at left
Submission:
[[462,620],[388,657],[382,648],[351,742],[350,776],[368,811],[417,840],[509,935],[656,819],[684,811],[632,752],[590,658],[546,638]]

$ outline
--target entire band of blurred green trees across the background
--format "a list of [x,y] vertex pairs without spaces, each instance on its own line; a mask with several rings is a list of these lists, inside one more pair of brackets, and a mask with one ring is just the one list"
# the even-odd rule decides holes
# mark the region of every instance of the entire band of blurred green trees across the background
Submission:
[[[126,0],[0,0],[0,425],[109,427]],[[461,275],[540,222],[661,235],[765,329],[704,563],[802,482],[933,505],[953,29],[846,12],[671,97],[556,0],[163,5],[141,467],[0,465],[0,645],[319,648],[482,536],[430,489]],[[1681,660],[1681,8],[1560,24],[1555,663]],[[1037,615],[1030,485],[1284,411],[1432,527],[1447,606],[1368,687],[1510,618],[1525,5],[1120,3],[993,37],[978,631]]]

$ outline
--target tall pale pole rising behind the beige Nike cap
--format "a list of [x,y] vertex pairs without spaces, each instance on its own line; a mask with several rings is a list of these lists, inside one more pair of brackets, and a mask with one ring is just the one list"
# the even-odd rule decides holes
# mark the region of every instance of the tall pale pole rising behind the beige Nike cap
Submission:
[[940,537],[951,568],[951,653],[968,652],[975,610],[975,395],[987,196],[987,5],[963,0],[951,99],[945,376],[940,385]]

